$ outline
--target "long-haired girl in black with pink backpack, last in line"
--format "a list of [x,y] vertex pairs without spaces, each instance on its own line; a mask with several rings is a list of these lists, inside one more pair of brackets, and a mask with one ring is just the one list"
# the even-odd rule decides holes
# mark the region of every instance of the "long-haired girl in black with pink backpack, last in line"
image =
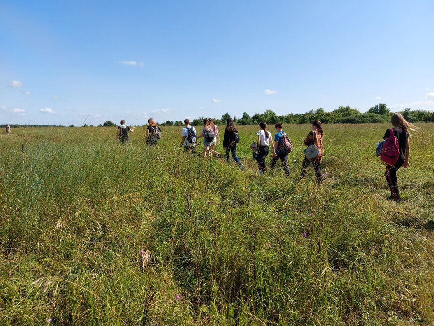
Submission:
[[[394,126],[393,133],[396,138],[398,138],[398,148],[399,157],[395,165],[389,165],[386,163],[386,172],[384,177],[386,178],[387,184],[390,189],[390,196],[388,199],[393,201],[399,201],[399,190],[397,184],[397,171],[402,166],[404,169],[409,167],[409,154],[410,154],[410,143],[409,143],[409,130],[419,130],[418,127],[406,121],[401,113],[395,113],[392,115],[391,123]],[[389,129],[386,130],[383,139],[390,136]]]

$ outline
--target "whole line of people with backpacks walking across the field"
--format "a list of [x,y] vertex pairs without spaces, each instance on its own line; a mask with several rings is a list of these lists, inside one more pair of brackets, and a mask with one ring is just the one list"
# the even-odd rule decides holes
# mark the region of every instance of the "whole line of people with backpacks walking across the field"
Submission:
[[[194,126],[190,125],[190,120],[184,120],[184,127],[181,130],[181,143],[180,147],[184,147],[185,152],[196,152],[196,146],[199,138],[203,138],[203,156],[219,158],[220,154],[216,151],[215,147],[220,144],[220,133],[217,125],[211,118],[205,118],[204,125],[199,134],[197,134]],[[418,127],[406,121],[400,113],[395,113],[391,119],[394,128],[386,130],[383,139],[396,138],[397,158],[391,160],[383,160],[383,156],[389,157],[392,151],[389,147],[384,147],[382,150],[382,161],[386,162],[385,178],[389,185],[391,195],[388,199],[398,201],[399,191],[397,185],[397,171],[403,166],[409,166],[409,130],[417,130]],[[288,135],[283,131],[283,124],[281,122],[274,125],[275,134],[274,138],[269,130],[267,130],[267,123],[261,122],[259,124],[259,131],[257,132],[257,141],[252,143],[250,148],[253,150],[253,158],[256,159],[258,164],[259,174],[266,173],[266,157],[272,152],[270,169],[273,169],[277,161],[281,161],[283,170],[286,176],[289,176],[290,170],[288,166],[288,154],[292,151],[292,142]],[[122,120],[118,126],[116,139],[119,138],[121,143],[128,141],[128,133],[134,132],[134,128],[125,125]],[[148,120],[146,129],[146,144],[155,146],[161,138],[161,128],[157,126],[151,118]],[[394,140],[391,140],[394,141]],[[223,136],[223,149],[225,151],[226,161],[230,161],[230,156],[238,164],[239,169],[244,169],[244,164],[236,154],[237,144],[239,142],[238,129],[232,118],[227,119],[226,128]],[[312,165],[315,176],[318,182],[322,181],[323,174],[321,173],[320,165],[324,155],[324,131],[322,129],[321,121],[315,120],[312,122],[311,130],[304,139],[304,145],[307,148],[304,150],[305,156],[301,164],[300,177],[306,175],[307,168]]]

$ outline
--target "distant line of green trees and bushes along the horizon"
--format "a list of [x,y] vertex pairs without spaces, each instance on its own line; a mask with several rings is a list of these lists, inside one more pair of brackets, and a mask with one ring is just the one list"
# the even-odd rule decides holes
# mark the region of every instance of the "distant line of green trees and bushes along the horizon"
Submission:
[[[434,122],[434,112],[428,110],[411,110],[409,108],[401,112],[404,118],[409,122]],[[322,123],[382,123],[390,122],[392,112],[388,109],[386,104],[379,104],[371,107],[367,112],[360,113],[357,109],[350,106],[340,106],[336,110],[326,112],[322,107],[316,110],[310,110],[307,113],[289,113],[286,115],[277,115],[273,110],[266,110],[264,113],[256,113],[250,116],[244,112],[242,117],[233,117],[235,123],[240,125],[257,125],[262,121],[269,124],[283,122],[286,124],[306,124],[311,123],[313,120],[320,120]],[[226,124],[229,113],[222,115],[220,119],[215,119],[216,124]],[[194,126],[203,124],[204,117],[194,119],[190,123]],[[182,121],[166,121],[161,124],[162,126],[182,126]]]

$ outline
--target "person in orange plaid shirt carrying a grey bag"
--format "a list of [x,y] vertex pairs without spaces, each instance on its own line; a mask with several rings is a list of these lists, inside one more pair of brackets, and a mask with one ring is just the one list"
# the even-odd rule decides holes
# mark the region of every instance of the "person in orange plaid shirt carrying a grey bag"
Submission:
[[[314,145],[318,150],[318,155],[313,159],[309,160],[306,155],[304,155],[303,163],[301,164],[301,174],[303,178],[306,175],[307,167],[312,163],[313,169],[315,170],[316,179],[321,182],[322,175],[320,170],[320,164],[322,156],[324,155],[324,131],[322,130],[321,121],[315,120],[312,122],[311,131],[304,140],[304,144]],[[305,150],[306,152],[306,150]]]

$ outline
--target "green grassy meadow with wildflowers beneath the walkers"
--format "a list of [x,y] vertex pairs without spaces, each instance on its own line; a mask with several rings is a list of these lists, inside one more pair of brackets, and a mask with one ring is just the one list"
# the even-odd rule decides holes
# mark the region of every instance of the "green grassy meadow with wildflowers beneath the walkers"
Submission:
[[2,134],[0,325],[434,325],[434,124],[400,203],[374,156],[387,127],[325,125],[319,187],[298,176],[306,125],[284,127],[289,178],[258,175],[255,126],[243,172],[185,155],[179,127],[155,148],[144,128]]

